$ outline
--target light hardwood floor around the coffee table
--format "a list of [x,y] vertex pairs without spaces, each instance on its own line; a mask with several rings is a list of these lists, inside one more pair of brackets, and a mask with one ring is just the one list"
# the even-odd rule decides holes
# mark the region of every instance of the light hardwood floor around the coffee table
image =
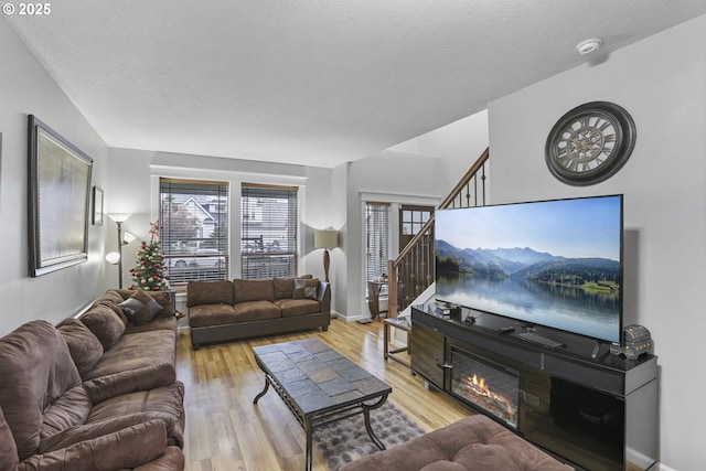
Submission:
[[[388,402],[425,430],[435,430],[473,413],[445,395],[426,390],[424,382],[397,362],[383,360],[383,323],[332,319],[328,332],[308,331],[191,349],[189,333],[176,342],[176,377],[185,385],[184,430],[189,471],[300,471],[304,433],[279,396],[269,390],[253,398],[265,379],[252,347],[317,336],[393,387]],[[315,447],[314,447],[315,450]],[[313,469],[328,467],[314,451]]]

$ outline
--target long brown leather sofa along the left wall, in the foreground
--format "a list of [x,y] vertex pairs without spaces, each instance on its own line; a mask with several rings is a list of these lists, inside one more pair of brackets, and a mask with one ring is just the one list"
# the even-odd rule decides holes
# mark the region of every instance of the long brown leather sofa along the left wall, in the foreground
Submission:
[[173,297],[128,290],[0,339],[0,471],[183,470],[175,341]]

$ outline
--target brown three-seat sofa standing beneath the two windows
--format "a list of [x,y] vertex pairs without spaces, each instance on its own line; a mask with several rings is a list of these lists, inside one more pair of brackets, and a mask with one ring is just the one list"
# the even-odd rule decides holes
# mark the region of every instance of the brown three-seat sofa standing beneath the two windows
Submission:
[[318,328],[327,331],[331,289],[311,276],[191,281],[186,307],[191,345],[199,350],[204,343]]

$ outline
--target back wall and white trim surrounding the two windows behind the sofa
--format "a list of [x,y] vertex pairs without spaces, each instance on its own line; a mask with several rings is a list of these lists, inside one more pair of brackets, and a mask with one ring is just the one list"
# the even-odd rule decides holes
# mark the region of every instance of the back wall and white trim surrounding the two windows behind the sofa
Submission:
[[[110,149],[108,167],[111,175],[111,182],[106,191],[108,210],[132,213],[133,215],[124,224],[124,228],[138,237],[136,242],[124,249],[126,257],[124,286],[130,285],[127,270],[135,261],[133,256],[140,240],[148,237],[150,222],[158,218],[159,176],[215,180],[229,183],[232,254],[237,254],[239,250],[240,183],[299,186],[300,253],[302,254],[299,260],[299,272],[312,274],[323,279],[323,251],[313,249],[313,231],[334,224],[330,217],[330,192],[332,191],[330,170],[133,149]],[[111,227],[115,228],[115,224]],[[109,235],[108,244],[110,247],[117,244],[116,238],[117,232],[116,235]],[[231,265],[233,278],[239,277],[239,264],[233,263]]]

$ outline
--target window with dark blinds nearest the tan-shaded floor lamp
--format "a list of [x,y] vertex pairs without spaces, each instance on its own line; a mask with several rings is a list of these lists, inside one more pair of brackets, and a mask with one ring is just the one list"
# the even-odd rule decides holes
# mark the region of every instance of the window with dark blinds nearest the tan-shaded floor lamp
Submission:
[[240,276],[243,279],[297,275],[297,188],[243,183]]

